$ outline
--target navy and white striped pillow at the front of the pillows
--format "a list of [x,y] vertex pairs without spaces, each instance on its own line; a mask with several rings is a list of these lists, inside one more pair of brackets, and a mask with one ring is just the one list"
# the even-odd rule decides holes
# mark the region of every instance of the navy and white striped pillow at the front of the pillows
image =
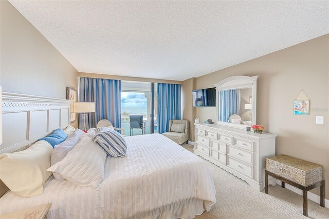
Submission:
[[95,129],[93,138],[109,156],[125,156],[127,144],[119,132],[107,127],[99,127]]

